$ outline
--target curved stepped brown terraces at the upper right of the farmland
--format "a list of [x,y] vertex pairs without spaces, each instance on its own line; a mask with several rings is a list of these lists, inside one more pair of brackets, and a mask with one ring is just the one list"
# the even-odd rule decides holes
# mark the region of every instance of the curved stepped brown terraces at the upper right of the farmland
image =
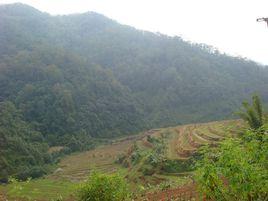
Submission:
[[205,144],[216,145],[220,140],[237,135],[243,127],[240,120],[217,121],[204,124],[189,124],[168,128],[168,158],[187,159]]

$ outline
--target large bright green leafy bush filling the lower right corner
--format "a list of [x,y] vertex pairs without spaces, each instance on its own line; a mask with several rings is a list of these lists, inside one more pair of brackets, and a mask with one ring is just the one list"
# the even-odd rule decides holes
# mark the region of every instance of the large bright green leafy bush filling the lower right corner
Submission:
[[266,200],[268,137],[247,131],[244,139],[230,139],[219,148],[204,149],[196,171],[201,195],[212,200]]

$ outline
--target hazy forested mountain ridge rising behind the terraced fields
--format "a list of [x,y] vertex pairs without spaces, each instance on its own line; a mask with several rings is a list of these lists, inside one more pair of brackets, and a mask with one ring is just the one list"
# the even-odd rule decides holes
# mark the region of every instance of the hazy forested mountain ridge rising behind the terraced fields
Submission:
[[[35,140],[33,149],[45,154],[54,145],[81,150],[92,137],[230,118],[252,93],[268,102],[267,87],[267,68],[206,45],[94,12],[51,16],[24,4],[0,6],[0,143]],[[6,126],[12,111],[20,122],[14,128]],[[13,155],[26,158],[22,169],[51,161],[29,159],[29,150],[0,152],[2,175],[18,172]]]

